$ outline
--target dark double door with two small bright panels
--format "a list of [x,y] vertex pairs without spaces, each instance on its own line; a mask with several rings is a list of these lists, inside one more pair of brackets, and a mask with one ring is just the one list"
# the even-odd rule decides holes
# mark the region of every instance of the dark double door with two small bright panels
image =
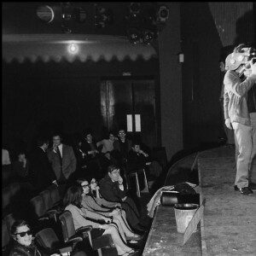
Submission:
[[154,79],[104,79],[101,86],[102,118],[108,130],[124,127],[148,147],[157,146]]

